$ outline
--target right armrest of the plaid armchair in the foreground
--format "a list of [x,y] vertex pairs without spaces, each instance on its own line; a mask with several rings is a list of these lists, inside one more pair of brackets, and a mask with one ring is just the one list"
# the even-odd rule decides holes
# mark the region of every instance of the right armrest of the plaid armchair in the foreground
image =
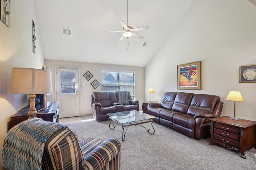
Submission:
[[118,154],[120,155],[120,149],[121,144],[118,139],[107,139],[84,157],[83,168],[88,170],[102,170],[104,166],[110,162],[110,160],[112,160]]

